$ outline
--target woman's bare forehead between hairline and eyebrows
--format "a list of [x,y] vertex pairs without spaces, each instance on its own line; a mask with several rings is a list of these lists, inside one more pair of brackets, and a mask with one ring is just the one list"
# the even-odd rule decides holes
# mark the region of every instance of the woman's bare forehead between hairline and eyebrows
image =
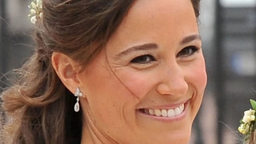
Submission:
[[119,42],[141,43],[167,38],[174,40],[198,33],[190,0],[136,0],[110,38]]

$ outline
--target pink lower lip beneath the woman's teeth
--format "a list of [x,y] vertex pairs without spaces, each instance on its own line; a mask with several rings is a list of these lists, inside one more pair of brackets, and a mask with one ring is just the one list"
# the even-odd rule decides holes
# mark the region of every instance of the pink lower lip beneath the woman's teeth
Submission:
[[174,116],[172,118],[164,117],[164,116],[152,116],[150,114],[146,114],[144,112],[141,112],[140,110],[136,110],[136,111],[137,111],[138,114],[140,114],[140,115],[142,115],[146,118],[151,118],[153,120],[164,121],[164,122],[174,122],[174,121],[181,121],[185,118],[186,113],[187,113],[188,104],[189,104],[189,101],[184,104],[183,112],[180,115]]

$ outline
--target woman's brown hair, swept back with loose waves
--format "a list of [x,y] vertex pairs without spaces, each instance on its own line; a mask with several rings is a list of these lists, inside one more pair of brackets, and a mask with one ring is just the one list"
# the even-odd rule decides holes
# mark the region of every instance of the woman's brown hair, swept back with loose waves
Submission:
[[[6,115],[15,118],[5,124],[13,144],[80,144],[82,112],[74,112],[76,99],[56,75],[52,52],[66,54],[86,66],[133,2],[42,0],[43,17],[35,30],[36,50],[22,68],[15,70],[15,84],[1,95]],[[191,2],[198,18],[200,0]]]

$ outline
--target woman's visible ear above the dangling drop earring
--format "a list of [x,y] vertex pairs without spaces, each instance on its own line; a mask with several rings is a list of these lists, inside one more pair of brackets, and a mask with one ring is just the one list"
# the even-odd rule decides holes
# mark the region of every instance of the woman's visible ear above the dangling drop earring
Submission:
[[52,66],[64,86],[74,94],[74,91],[79,84],[77,74],[80,66],[78,66],[78,63],[65,54],[53,52]]

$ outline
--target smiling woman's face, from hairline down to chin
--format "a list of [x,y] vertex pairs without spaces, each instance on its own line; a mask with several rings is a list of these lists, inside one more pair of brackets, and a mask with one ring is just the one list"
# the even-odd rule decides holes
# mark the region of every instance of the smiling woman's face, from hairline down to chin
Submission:
[[86,130],[112,143],[186,144],[206,86],[201,46],[190,0],[134,2],[78,74]]

